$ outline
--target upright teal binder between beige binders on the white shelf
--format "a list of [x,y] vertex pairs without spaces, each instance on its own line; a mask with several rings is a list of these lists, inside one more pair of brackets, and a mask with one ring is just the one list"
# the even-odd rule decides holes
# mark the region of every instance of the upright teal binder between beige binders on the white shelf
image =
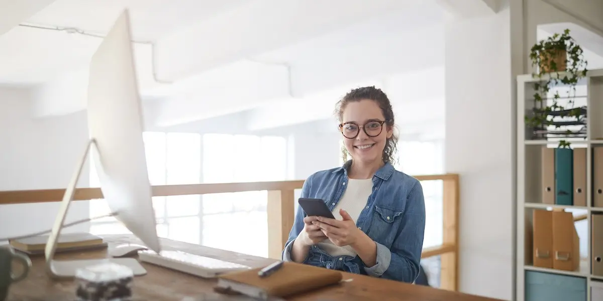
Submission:
[[555,204],[573,205],[573,149],[555,149]]

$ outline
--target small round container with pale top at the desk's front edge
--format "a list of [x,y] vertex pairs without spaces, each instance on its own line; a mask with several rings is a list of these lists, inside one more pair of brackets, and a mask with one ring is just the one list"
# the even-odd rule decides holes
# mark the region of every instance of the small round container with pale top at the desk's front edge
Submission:
[[134,273],[125,265],[107,262],[75,272],[78,301],[129,300]]

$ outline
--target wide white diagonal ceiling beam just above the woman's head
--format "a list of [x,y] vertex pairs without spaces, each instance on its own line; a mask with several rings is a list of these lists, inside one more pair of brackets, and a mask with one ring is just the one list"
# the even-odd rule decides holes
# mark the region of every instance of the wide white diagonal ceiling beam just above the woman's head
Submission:
[[[298,101],[303,105],[308,101],[321,105],[317,99],[334,101],[342,96],[341,93],[364,82],[379,82],[379,78],[391,74],[437,68],[444,64],[442,23],[413,31],[398,28],[380,36],[350,39],[346,44],[320,41],[295,49],[292,55],[294,62],[290,66],[240,61],[202,73],[195,79],[187,79],[190,92],[164,101],[157,125],[172,126],[251,110],[264,104],[290,107],[279,102]],[[408,47],[409,41],[414,45],[412,48]],[[268,60],[272,55],[279,56],[260,55],[259,59]],[[354,63],[350,64],[350,61]],[[426,78],[426,83],[430,82],[429,79]],[[433,89],[428,87],[428,90]],[[294,107],[303,110],[300,105]],[[298,117],[289,122],[298,122],[294,121]],[[280,123],[277,119],[270,122],[274,125]],[[253,125],[251,128],[256,126],[257,129],[264,127]]]

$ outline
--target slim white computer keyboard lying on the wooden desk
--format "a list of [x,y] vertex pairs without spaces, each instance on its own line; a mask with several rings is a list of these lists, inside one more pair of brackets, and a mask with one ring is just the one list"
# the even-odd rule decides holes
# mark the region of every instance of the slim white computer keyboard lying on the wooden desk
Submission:
[[171,268],[172,270],[203,278],[214,278],[219,274],[251,268],[247,265],[236,264],[235,262],[172,250],[163,250],[159,254],[152,250],[143,250],[138,252],[138,258],[142,262]]

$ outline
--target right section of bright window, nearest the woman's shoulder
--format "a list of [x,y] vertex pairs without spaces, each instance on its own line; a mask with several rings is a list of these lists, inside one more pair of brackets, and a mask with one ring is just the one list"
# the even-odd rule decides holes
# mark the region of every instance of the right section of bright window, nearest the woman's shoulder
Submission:
[[[204,182],[284,181],[286,145],[283,137],[206,134]],[[205,195],[203,245],[268,256],[266,200],[267,191]]]

